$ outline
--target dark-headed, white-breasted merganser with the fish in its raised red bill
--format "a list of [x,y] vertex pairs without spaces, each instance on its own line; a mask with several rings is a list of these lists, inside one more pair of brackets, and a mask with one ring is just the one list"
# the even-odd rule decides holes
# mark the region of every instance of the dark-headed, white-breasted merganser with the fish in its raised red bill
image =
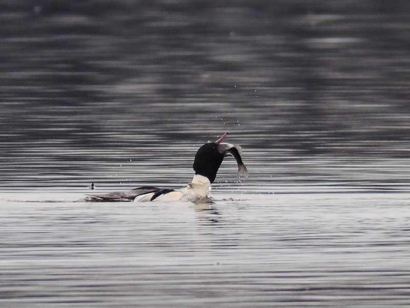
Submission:
[[87,195],[87,201],[197,201],[207,200],[211,184],[215,181],[216,174],[223,158],[233,156],[238,164],[239,177],[248,178],[247,167],[242,162],[242,150],[239,145],[222,143],[228,132],[215,142],[202,145],[196,152],[193,169],[194,178],[186,187],[180,189],[158,188],[142,186],[130,190],[120,190],[101,195]]

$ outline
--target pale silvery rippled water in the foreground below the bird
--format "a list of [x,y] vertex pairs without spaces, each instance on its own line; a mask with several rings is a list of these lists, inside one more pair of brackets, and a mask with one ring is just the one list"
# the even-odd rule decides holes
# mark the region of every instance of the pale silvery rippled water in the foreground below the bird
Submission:
[[3,195],[3,306],[408,304],[409,194],[74,195]]

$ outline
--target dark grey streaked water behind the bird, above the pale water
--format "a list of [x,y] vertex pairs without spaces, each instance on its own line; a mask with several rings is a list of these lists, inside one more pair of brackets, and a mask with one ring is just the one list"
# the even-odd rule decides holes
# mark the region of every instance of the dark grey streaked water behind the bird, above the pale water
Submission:
[[406,1],[0,9],[3,187],[183,182],[229,130],[249,183],[407,189]]

